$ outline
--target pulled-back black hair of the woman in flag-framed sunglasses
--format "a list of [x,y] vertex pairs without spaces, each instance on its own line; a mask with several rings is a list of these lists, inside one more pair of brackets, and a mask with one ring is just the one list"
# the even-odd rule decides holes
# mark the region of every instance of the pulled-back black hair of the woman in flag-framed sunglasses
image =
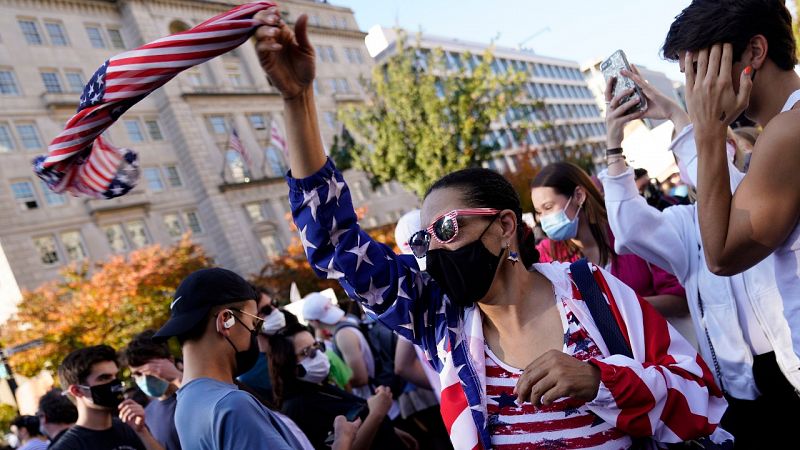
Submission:
[[511,183],[499,173],[484,168],[462,169],[440,178],[425,193],[428,197],[437,189],[461,191],[464,201],[473,208],[510,209],[517,216],[519,254],[525,267],[539,262],[533,230],[522,220],[522,205]]

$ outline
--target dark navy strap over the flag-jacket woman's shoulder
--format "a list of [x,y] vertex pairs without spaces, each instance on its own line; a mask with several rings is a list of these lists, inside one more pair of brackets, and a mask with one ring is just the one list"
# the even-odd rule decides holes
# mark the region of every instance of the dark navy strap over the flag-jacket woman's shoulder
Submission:
[[578,286],[581,297],[586,306],[589,307],[594,323],[606,342],[608,351],[612,355],[625,355],[628,358],[633,358],[631,347],[625,340],[625,336],[622,335],[617,319],[611,313],[611,308],[606,303],[603,292],[600,290],[597,280],[594,279],[592,269],[589,267],[586,258],[570,264],[569,270],[572,273],[572,281]]

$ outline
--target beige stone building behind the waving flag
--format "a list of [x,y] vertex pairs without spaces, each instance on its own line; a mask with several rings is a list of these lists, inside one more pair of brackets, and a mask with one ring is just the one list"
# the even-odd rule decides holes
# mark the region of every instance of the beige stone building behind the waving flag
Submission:
[[[257,273],[290,242],[282,100],[261,70],[253,42],[183,72],[109,129],[139,153],[129,194],[88,200],[50,192],[32,173],[77,107],[80,91],[110,56],[183,31],[242,1],[6,0],[0,5],[0,245],[20,288],[58,277],[65,264],[104,260],[191,231],[217,264]],[[327,2],[286,0],[292,24],[309,16],[317,51],[321,132],[339,132],[337,105],[361,101],[359,77],[372,60],[353,12]],[[231,135],[247,150],[229,149]],[[350,173],[366,224],[397,220],[417,199],[392,183],[373,192]],[[3,299],[4,302],[14,301]]]

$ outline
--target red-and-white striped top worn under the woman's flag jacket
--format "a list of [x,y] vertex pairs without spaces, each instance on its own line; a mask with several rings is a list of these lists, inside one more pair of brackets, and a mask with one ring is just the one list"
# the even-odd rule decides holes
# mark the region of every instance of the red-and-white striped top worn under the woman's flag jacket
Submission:
[[[561,301],[564,353],[581,361],[602,358],[594,340],[565,301]],[[560,398],[550,405],[519,404],[514,394],[522,370],[501,361],[486,345],[486,411],[492,447],[497,450],[629,448],[630,436],[604,421],[586,402]]]

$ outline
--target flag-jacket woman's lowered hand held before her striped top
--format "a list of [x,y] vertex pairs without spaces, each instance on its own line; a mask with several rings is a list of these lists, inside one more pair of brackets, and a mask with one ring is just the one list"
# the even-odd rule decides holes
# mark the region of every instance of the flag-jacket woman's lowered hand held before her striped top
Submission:
[[562,397],[590,401],[600,388],[600,369],[558,350],[536,358],[519,377],[520,401],[549,405]]

